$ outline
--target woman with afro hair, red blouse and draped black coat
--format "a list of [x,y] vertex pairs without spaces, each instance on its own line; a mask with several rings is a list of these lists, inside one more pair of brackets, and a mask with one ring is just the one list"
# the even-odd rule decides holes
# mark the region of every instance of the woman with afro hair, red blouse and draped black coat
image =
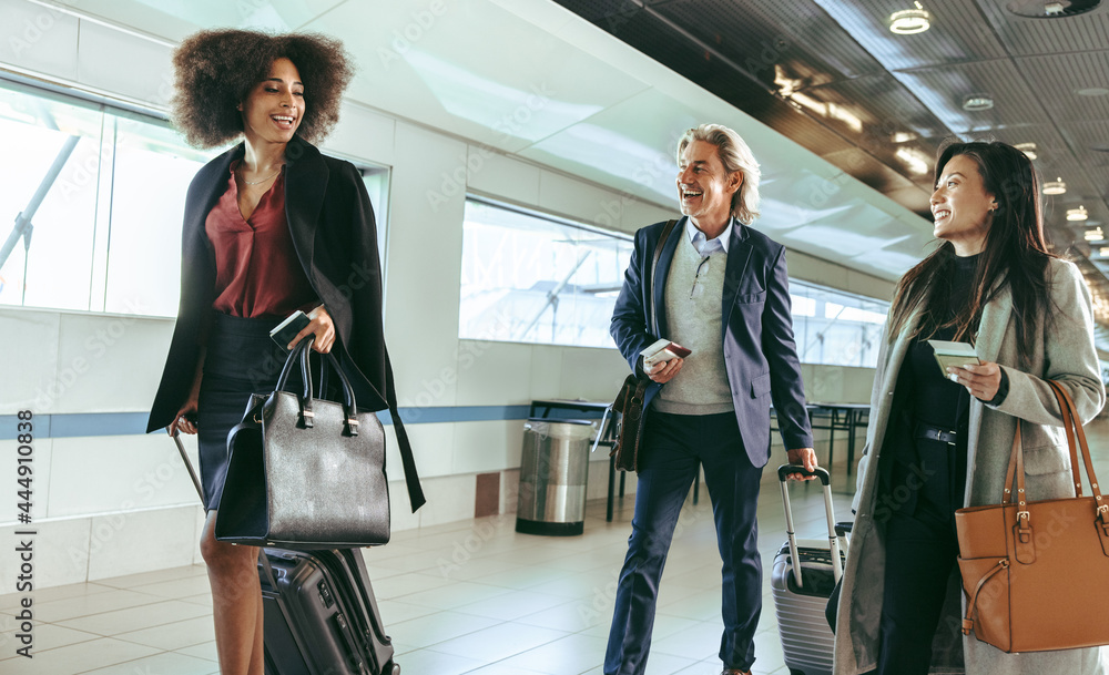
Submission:
[[189,187],[181,303],[147,431],[199,434],[201,553],[220,669],[262,675],[260,550],[216,541],[213,531],[227,432],[251,393],[276,387],[286,356],[269,330],[287,315],[302,309],[311,319],[289,348],[312,336],[314,351],[336,355],[360,407],[389,408],[414,511],[424,495],[385,348],[374,209],[354,165],[309,143],[338,120],[352,75],[342,45],[312,34],[203,31],[181,43],[173,64],[173,117],[189,142],[240,142]]

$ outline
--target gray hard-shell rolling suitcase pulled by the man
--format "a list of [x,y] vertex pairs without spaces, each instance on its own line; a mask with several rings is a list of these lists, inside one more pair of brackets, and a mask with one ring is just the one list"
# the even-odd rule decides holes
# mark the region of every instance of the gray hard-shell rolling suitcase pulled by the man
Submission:
[[[827,539],[796,538],[790,489],[785,479],[790,473],[807,473],[821,480],[827,512]],[[774,556],[771,593],[774,596],[785,665],[791,675],[831,675],[835,636],[828,627],[824,610],[832,590],[843,574],[845,552],[841,551],[841,539],[836,534],[831,479],[824,469],[807,472],[794,464],[780,467],[777,477],[785,502],[785,531],[788,540]],[[846,549],[846,540],[843,543]]]

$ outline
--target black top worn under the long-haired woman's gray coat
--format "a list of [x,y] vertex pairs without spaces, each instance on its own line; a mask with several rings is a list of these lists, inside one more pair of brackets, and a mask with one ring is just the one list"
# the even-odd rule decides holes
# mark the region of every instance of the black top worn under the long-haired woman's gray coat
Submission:
[[[936,324],[945,324],[955,318],[970,298],[974,284],[975,267],[979,255],[954,257],[945,265],[934,293],[945,294],[943,316],[935,317]],[[927,320],[924,319],[924,320]],[[930,339],[952,340],[955,328],[940,328]],[[939,369],[932,346],[920,336],[909,346],[906,366],[913,369],[914,397],[910,403],[913,417],[933,427],[944,429],[966,429],[970,411],[970,393],[966,387],[947,379]]]

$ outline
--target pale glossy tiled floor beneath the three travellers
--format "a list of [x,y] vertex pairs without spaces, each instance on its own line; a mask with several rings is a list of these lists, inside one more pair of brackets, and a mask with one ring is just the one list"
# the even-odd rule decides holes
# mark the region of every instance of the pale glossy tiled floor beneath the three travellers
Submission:
[[[1096,466],[1109,475],[1109,450],[1098,450],[1109,447],[1109,422],[1088,432]],[[838,491],[853,480],[842,467],[835,473],[836,512],[845,519],[849,495]],[[821,494],[817,484],[792,491],[802,536],[821,535]],[[599,675],[632,501],[611,523],[604,503],[591,503],[581,536],[517,534],[509,515],[398,532],[387,546],[367,550],[405,675]],[[784,515],[770,471],[759,513],[766,580],[754,672],[786,675],[769,574]],[[720,559],[706,499],[686,503],[663,580],[649,675],[719,674]],[[201,565],[44,589],[33,599],[35,656],[28,659],[16,655],[17,596],[0,596],[4,675],[218,672]]]

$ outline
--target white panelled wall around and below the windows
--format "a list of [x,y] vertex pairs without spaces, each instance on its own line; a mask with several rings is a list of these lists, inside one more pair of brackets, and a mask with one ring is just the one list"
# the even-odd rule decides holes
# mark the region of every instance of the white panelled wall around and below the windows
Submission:
[[[23,0],[0,0],[0,65],[165,104],[167,47],[112,34]],[[28,40],[35,35],[28,25],[47,23],[49,30]],[[603,216],[627,232],[671,217],[672,208],[363,106],[346,106],[326,147],[393,167],[386,335],[401,407],[428,400],[439,407],[613,396],[627,375],[614,349],[458,339],[465,195],[479,192],[590,223]],[[451,177],[459,175],[465,185]],[[790,264],[797,278],[888,297],[887,283],[811,256],[791,253]],[[0,416],[22,409],[39,415],[145,411],[171,331],[166,319],[2,308],[7,357]],[[868,369],[806,366],[804,372],[814,400],[868,398]],[[501,503],[506,511],[515,510],[521,421],[408,428],[428,504],[417,514],[409,512],[399,456],[391,446],[394,529],[471,517],[477,473],[501,472]],[[195,459],[194,443],[187,441]],[[10,457],[13,443],[2,446]],[[167,438],[52,438],[34,448],[33,514],[42,542],[37,587],[199,561],[201,509]],[[607,461],[593,462],[590,497],[602,497],[606,481]],[[633,481],[629,488],[634,490]],[[14,502],[14,481],[0,481],[0,504]],[[18,528],[2,522],[8,518],[13,518],[10,508],[0,511],[0,536],[11,539]],[[10,565],[0,567],[0,585],[12,587],[14,574]]]

